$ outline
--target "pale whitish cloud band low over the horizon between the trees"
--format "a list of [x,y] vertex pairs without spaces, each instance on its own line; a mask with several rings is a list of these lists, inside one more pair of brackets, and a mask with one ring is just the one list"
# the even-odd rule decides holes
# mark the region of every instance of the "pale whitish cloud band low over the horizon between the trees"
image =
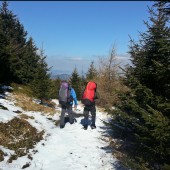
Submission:
[[[99,56],[99,55],[98,55]],[[94,61],[96,65],[98,63],[98,56],[92,55],[91,57],[78,57],[78,56],[67,56],[67,55],[55,55],[46,58],[49,67],[52,67],[51,72],[55,70],[59,74],[71,74],[75,68],[79,74],[86,73],[91,62]],[[101,56],[102,57],[102,56]],[[106,56],[103,56],[106,57]],[[130,64],[129,54],[118,54],[117,63],[121,66]]]

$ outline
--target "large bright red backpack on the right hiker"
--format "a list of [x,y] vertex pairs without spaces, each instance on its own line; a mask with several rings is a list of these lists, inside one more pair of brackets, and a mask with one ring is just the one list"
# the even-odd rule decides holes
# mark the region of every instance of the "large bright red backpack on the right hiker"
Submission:
[[94,97],[97,89],[97,84],[93,81],[87,83],[82,96],[82,103],[85,105],[91,105],[94,103]]

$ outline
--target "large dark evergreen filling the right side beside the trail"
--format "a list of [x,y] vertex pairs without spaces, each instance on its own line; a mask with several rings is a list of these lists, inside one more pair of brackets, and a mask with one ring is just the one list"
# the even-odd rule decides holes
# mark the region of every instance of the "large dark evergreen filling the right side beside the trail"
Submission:
[[[169,2],[168,2],[169,4]],[[134,136],[142,161],[161,169],[170,162],[170,28],[164,12],[167,3],[149,9],[150,23],[139,42],[130,40],[132,66],[124,82],[130,88],[121,94],[117,121]],[[159,169],[158,168],[158,169]]]

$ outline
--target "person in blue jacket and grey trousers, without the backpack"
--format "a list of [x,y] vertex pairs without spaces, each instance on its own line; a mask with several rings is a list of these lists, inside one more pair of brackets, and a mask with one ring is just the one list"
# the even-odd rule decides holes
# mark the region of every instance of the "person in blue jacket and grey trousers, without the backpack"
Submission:
[[65,126],[65,113],[66,111],[68,112],[69,115],[69,122],[70,124],[74,123],[74,116],[73,116],[73,110],[72,110],[72,106],[74,104],[74,108],[77,108],[78,102],[77,102],[77,95],[75,90],[73,89],[73,87],[71,86],[71,84],[69,83],[70,86],[70,102],[68,102],[67,104],[61,104],[61,116],[60,116],[60,128],[64,128]]

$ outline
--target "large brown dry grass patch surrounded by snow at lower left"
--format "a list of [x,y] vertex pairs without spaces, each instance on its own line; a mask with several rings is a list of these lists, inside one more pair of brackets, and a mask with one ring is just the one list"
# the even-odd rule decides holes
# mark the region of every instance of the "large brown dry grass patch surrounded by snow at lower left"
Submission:
[[[7,123],[0,123],[0,145],[14,150],[8,162],[11,163],[20,156],[28,153],[30,148],[43,139],[44,131],[38,133],[26,120],[14,118]],[[4,159],[5,153],[0,150],[0,161]]]

